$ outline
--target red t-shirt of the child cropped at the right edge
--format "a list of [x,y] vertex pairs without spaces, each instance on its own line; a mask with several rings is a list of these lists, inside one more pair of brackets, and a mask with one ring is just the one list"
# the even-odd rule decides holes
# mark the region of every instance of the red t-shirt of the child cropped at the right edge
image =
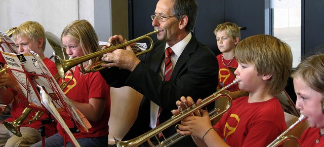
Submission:
[[[318,139],[318,143],[316,140]],[[307,128],[300,137],[300,146],[324,146],[324,136],[319,136],[319,128]]]

